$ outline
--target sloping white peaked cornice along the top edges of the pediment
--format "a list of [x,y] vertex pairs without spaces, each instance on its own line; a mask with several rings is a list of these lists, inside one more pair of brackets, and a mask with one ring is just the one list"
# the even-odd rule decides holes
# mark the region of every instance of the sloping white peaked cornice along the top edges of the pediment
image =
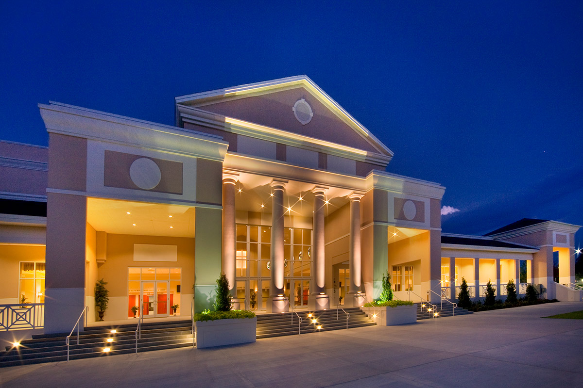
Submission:
[[331,109],[340,120],[356,130],[361,137],[366,139],[368,143],[373,145],[373,147],[381,154],[385,154],[392,158],[394,154],[391,149],[382,144],[382,142],[366,129],[366,127],[354,119],[350,113],[346,112],[345,109],[338,104],[338,102],[334,101],[328,94],[326,94],[326,92],[324,92],[324,90],[317,86],[314,81],[305,75],[183,95],[176,97],[175,101],[176,104],[187,104],[197,107],[240,98],[241,95],[250,97],[250,95],[265,94],[270,91],[293,87],[305,87],[314,95],[314,97],[318,98],[318,101],[322,102],[325,106],[328,106],[328,108]]

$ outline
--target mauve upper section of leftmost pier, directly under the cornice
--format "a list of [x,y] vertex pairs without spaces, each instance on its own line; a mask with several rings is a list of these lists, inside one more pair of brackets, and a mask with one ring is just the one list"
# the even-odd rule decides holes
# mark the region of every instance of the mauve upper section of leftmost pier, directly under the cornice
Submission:
[[48,143],[48,187],[85,191],[87,140],[50,133]]

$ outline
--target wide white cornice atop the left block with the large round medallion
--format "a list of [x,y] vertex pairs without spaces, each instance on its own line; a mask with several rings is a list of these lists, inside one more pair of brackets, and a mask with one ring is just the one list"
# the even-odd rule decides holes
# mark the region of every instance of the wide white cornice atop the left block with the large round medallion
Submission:
[[228,143],[218,136],[51,102],[38,104],[47,131],[223,161]]

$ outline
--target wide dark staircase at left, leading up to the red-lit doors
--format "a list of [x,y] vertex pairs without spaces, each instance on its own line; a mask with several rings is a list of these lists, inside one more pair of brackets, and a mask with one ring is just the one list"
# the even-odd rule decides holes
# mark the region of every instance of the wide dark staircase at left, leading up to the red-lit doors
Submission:
[[[75,331],[69,342],[69,359],[135,353],[135,330],[136,324],[88,327],[79,332],[79,344]],[[192,346],[192,323],[189,319],[142,323],[141,331],[139,352]],[[0,352],[0,367],[66,361],[67,335],[34,335],[33,339],[22,341],[20,346],[6,347],[5,352]]]

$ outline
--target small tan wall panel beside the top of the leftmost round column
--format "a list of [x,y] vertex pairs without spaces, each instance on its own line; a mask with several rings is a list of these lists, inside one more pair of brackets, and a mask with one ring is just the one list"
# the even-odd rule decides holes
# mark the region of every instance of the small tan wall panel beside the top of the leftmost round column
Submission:
[[221,162],[207,159],[196,160],[196,202],[222,205],[223,164]]

